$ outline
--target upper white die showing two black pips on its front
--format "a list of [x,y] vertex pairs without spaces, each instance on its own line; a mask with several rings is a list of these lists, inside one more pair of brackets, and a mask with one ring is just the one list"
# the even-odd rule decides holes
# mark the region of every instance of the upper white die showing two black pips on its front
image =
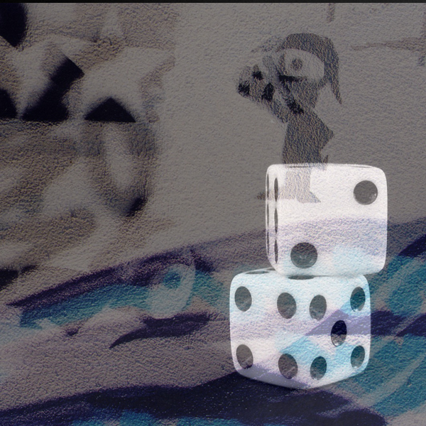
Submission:
[[364,275],[386,261],[388,195],[368,165],[271,165],[266,251],[283,275]]

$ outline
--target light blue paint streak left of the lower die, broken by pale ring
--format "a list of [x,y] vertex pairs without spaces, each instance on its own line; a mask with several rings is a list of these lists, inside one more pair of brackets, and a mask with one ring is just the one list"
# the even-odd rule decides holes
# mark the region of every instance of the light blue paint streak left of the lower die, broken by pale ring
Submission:
[[[169,280],[170,283],[168,282]],[[176,276],[172,273],[165,275],[163,285],[165,288],[176,288],[178,285],[176,283]],[[155,288],[148,286],[138,287],[129,284],[109,285],[108,287],[78,295],[57,305],[24,312],[21,316],[21,327],[40,328],[38,322],[45,319],[50,320],[50,322],[56,325],[87,320],[89,317],[93,317],[101,312],[105,307],[114,309],[133,306],[149,314],[150,305],[147,299],[151,292],[155,292]],[[190,305],[192,297],[195,295],[201,297],[209,305],[219,310],[219,312],[228,315],[228,295],[224,294],[224,286],[217,283],[207,273],[197,272],[195,274],[195,283],[192,286],[192,292],[182,312]]]

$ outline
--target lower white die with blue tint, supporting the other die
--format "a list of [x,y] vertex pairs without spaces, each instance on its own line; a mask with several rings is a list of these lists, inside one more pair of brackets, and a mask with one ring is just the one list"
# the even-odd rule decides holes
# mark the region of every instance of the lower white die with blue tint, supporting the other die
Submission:
[[371,307],[363,275],[241,273],[231,283],[230,323],[236,371],[258,381],[316,388],[368,364]]

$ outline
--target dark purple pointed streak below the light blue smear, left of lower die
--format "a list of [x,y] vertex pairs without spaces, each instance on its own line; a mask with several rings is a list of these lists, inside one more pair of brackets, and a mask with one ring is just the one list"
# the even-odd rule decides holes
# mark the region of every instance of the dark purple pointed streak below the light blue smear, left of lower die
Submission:
[[188,314],[182,313],[173,318],[155,319],[153,317],[143,320],[143,326],[140,329],[133,330],[130,333],[116,339],[109,346],[109,349],[133,342],[133,340],[151,339],[155,337],[178,337],[184,334],[190,334],[197,329],[204,327],[209,322],[210,317],[207,314]]

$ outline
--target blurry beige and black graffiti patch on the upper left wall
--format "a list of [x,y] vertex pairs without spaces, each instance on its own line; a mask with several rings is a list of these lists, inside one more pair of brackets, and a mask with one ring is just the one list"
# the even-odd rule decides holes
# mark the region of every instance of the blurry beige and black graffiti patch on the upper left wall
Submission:
[[[74,25],[85,7],[66,12]],[[47,263],[96,267],[152,193],[173,55],[129,40],[123,9],[98,9],[95,34],[72,36],[40,28],[36,6],[1,5],[1,288]]]

